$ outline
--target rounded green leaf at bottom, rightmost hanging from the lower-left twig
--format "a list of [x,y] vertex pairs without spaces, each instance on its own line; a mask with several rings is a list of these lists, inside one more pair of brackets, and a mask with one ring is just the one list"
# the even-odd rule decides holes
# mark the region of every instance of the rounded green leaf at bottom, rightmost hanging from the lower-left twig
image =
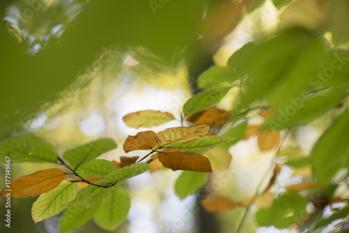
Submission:
[[124,190],[117,188],[98,206],[94,214],[95,223],[104,230],[114,230],[126,218],[131,208],[131,199]]

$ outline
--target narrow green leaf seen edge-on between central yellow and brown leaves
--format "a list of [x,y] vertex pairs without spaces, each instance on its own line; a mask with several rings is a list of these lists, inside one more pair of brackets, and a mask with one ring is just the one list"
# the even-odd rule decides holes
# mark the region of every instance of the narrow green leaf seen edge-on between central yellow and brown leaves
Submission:
[[202,136],[199,139],[195,139],[194,141],[189,141],[187,143],[178,143],[178,144],[172,144],[164,147],[170,147],[170,148],[198,148],[198,147],[205,147],[205,146],[214,146],[221,143],[227,143],[235,138],[228,138],[225,136]]

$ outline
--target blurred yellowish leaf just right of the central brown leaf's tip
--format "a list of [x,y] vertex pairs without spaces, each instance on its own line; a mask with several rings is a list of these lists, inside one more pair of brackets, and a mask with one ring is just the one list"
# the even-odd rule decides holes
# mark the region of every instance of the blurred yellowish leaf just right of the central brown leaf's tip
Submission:
[[208,150],[204,155],[211,162],[213,171],[229,169],[232,155],[230,155],[228,149],[214,147]]

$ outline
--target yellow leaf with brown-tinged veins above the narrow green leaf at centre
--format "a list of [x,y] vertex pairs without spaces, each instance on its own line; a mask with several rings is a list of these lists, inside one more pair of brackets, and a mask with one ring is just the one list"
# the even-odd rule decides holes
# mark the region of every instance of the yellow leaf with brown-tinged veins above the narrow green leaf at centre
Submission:
[[193,125],[191,127],[174,127],[165,129],[156,134],[158,146],[165,146],[174,143],[187,143],[199,139],[209,132],[208,125]]

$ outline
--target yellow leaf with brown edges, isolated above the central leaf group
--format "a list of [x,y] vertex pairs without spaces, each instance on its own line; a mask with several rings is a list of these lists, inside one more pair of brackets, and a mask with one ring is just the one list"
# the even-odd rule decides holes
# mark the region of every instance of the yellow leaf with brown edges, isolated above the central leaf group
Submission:
[[170,120],[176,120],[172,113],[154,111],[154,110],[144,110],[135,113],[128,113],[122,118],[128,127],[133,127],[138,129],[139,127],[153,127],[156,125],[161,125]]

